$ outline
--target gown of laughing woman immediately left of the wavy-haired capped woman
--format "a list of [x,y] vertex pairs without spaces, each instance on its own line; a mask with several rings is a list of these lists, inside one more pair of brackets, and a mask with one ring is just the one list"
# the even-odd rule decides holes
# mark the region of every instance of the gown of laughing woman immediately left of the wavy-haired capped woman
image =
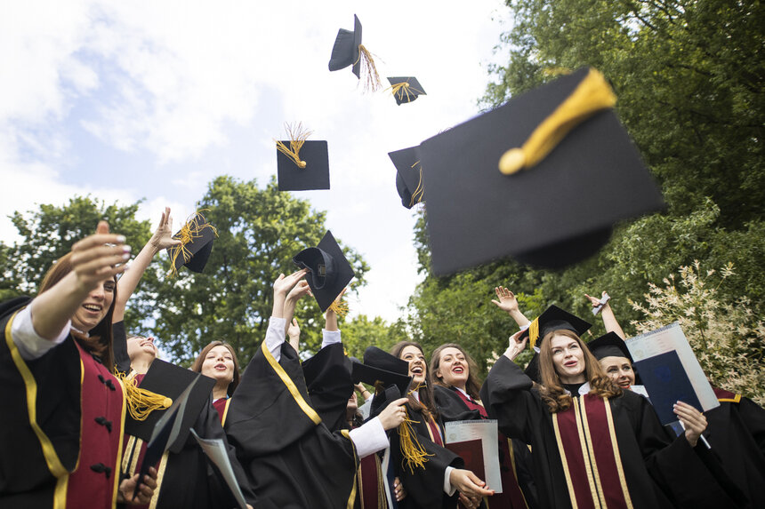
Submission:
[[[444,422],[488,418],[483,405],[469,400],[455,387],[434,386],[433,399]],[[511,441],[503,433],[499,433],[499,454],[503,492],[485,497],[487,505],[507,508],[534,507],[536,495],[526,465],[529,457],[526,444]],[[523,479],[523,482],[519,482],[519,479]]]

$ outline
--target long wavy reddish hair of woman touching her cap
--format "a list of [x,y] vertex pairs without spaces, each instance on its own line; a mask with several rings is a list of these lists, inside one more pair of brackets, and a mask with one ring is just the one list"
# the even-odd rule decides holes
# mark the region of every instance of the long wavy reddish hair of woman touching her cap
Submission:
[[584,345],[582,338],[576,335],[572,330],[552,330],[542,338],[539,349],[539,373],[542,378],[542,385],[539,387],[539,394],[542,401],[547,404],[550,413],[556,413],[567,410],[571,406],[571,396],[563,388],[560,382],[560,376],[555,370],[552,362],[552,348],[550,342],[553,336],[566,336],[576,340],[576,343],[582,349],[584,354],[584,378],[590,383],[590,393],[597,394],[601,398],[610,398],[622,394],[622,389],[616,386],[600,368],[600,362],[595,359],[590,349]]

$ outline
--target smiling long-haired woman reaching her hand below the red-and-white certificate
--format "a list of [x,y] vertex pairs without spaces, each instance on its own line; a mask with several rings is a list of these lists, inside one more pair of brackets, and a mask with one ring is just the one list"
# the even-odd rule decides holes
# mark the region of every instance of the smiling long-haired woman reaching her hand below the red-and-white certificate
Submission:
[[[462,465],[462,459],[444,448],[444,430],[439,423],[439,414],[428,383],[428,363],[423,347],[414,341],[400,341],[391,348],[391,355],[409,363],[408,374],[412,377],[412,385],[407,394],[409,424],[412,425],[418,441],[431,442],[423,446],[424,450],[438,459],[437,461],[431,458],[426,460],[423,466],[407,468],[403,465],[403,457],[399,455],[400,445],[393,444],[391,440],[396,473],[403,489],[407,490],[407,497],[400,501],[400,506],[453,507],[455,491],[459,491],[460,501],[471,505],[471,497],[467,494],[476,498],[479,495],[493,494],[490,489],[484,489],[486,483],[474,473],[455,468],[454,465]],[[459,462],[455,462],[455,459]]]

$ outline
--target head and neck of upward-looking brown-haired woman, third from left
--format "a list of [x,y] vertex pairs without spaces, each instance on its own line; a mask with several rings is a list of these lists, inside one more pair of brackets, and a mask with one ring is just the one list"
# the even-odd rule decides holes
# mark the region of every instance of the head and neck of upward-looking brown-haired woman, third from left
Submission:
[[221,425],[226,424],[230,397],[239,385],[239,361],[234,347],[224,341],[211,341],[199,352],[191,370],[215,380],[213,407],[218,411]]

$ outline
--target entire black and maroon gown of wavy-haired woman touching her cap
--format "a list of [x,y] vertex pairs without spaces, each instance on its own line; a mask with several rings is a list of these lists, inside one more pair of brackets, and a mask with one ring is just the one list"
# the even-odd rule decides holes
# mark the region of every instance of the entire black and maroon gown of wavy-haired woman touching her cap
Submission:
[[[694,489],[696,483],[711,479],[704,464],[683,436],[669,441],[644,397],[625,391],[606,400],[590,394],[572,399],[568,410],[551,414],[531,379],[505,356],[495,362],[481,388],[481,400],[489,416],[498,419],[500,430],[531,445],[540,505],[572,507],[569,487],[582,480],[586,484],[589,476],[600,482],[596,489],[590,481],[589,493],[580,489],[573,494],[579,507],[597,507],[602,497],[607,497],[608,507],[628,506],[624,499],[633,507],[672,506],[670,499],[681,507],[708,506]],[[583,423],[585,414],[589,420]],[[601,415],[606,417],[596,420]],[[571,424],[574,419],[576,426]],[[595,461],[590,452],[591,460],[584,457],[587,466],[582,468],[576,455],[584,456],[584,443],[581,448],[578,442],[576,447],[564,445],[576,442],[577,429],[579,440],[595,449]]]

